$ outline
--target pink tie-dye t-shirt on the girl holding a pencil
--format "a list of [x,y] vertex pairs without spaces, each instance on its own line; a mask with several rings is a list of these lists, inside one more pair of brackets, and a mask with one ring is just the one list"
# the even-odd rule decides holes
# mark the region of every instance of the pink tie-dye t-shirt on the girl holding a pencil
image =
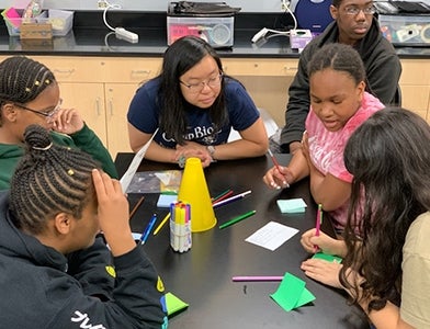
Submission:
[[[329,132],[314,113],[312,106],[306,118],[306,131],[309,144],[310,160],[322,174],[330,173],[339,180],[352,182],[352,174],[343,162],[343,150],[351,134],[373,113],[384,109],[384,104],[372,94],[365,92],[360,109],[347,122],[342,129]],[[336,211],[330,212],[333,225],[343,230],[347,224],[349,201]]]

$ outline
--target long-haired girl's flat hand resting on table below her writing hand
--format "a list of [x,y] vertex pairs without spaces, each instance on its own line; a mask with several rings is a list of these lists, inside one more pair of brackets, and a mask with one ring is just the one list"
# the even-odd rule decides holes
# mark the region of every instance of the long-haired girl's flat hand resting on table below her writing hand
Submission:
[[337,288],[343,288],[339,281],[339,272],[342,266],[343,265],[338,262],[308,259],[302,263],[301,269],[310,279]]

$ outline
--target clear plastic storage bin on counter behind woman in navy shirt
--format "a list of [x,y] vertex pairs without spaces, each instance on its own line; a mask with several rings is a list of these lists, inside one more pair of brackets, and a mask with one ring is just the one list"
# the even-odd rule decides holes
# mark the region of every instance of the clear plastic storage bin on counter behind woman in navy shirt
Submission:
[[214,48],[231,47],[235,18],[231,16],[167,16],[167,43],[171,45],[184,35],[205,39]]

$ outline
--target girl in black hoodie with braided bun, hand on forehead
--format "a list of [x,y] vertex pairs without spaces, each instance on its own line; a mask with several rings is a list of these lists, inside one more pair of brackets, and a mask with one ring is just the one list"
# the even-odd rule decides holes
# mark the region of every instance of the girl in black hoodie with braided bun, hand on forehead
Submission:
[[[2,326],[166,328],[162,283],[132,237],[120,182],[90,155],[53,144],[44,127],[30,125],[24,140],[10,193],[0,193]],[[67,273],[66,254],[92,246],[100,229],[114,259],[106,302],[84,292],[82,273]]]

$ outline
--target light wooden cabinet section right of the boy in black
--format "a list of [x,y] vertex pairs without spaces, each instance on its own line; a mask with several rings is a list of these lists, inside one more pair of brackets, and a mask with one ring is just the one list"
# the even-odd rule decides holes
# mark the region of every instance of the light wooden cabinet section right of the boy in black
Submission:
[[430,123],[430,60],[401,59],[401,106]]

